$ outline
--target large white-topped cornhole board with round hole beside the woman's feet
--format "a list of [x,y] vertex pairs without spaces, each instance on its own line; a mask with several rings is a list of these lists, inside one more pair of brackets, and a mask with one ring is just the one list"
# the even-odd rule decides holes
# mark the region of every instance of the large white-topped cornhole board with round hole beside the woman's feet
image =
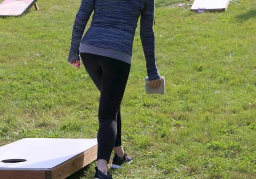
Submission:
[[[97,139],[21,139],[0,147],[0,178],[67,178],[95,161],[97,148]],[[10,159],[27,161],[3,162]]]

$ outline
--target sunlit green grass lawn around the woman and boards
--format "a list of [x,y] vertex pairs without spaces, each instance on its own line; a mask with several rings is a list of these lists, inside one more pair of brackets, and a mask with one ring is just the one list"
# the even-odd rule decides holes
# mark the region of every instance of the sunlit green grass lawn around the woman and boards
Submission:
[[[123,145],[135,159],[111,173],[255,178],[255,2],[230,2],[227,12],[203,14],[178,7],[184,2],[156,0],[163,96],[144,92],[136,31],[122,101]],[[79,3],[41,0],[39,11],[0,18],[0,146],[27,137],[96,138],[99,92],[84,68],[67,62]],[[95,165],[69,179],[93,178]]]

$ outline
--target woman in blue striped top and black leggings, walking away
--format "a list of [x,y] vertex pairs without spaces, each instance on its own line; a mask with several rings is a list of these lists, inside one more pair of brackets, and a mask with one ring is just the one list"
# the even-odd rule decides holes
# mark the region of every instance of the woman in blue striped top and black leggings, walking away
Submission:
[[[91,26],[83,36],[92,14]],[[100,91],[98,155],[95,178],[112,178],[107,165],[114,147],[112,169],[130,163],[121,144],[121,108],[130,73],[138,18],[140,37],[151,86],[160,86],[155,60],[154,0],[82,0],[76,15],[68,61],[80,68],[80,57]],[[79,57],[80,54],[80,57]]]

